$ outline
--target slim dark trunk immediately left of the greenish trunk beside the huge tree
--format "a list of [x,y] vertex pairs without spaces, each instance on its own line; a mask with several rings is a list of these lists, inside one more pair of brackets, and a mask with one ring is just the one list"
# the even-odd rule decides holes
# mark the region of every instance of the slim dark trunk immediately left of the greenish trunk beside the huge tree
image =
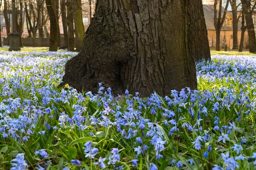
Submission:
[[67,0],[68,51],[75,51],[74,12],[71,0]]

